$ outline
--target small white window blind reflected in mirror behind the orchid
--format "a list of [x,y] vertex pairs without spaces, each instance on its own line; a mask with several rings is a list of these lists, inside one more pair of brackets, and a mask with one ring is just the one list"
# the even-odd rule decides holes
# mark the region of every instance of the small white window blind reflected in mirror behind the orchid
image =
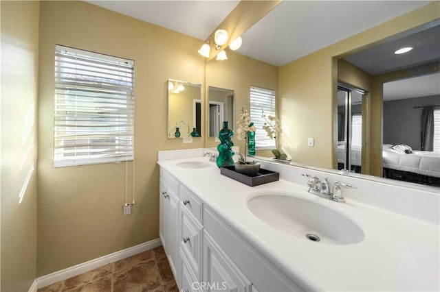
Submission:
[[250,86],[250,120],[256,127],[255,146],[274,149],[275,139],[268,137],[263,130],[265,120],[261,117],[262,110],[266,117],[275,117],[275,90]]

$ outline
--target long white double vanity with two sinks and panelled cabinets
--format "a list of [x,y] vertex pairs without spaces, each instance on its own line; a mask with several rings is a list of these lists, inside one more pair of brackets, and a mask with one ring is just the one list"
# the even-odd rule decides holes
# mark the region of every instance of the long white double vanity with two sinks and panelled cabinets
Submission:
[[[268,160],[280,180],[250,187],[206,151],[158,154],[159,234],[181,291],[439,291],[438,190]],[[305,173],[356,188],[334,202]]]

